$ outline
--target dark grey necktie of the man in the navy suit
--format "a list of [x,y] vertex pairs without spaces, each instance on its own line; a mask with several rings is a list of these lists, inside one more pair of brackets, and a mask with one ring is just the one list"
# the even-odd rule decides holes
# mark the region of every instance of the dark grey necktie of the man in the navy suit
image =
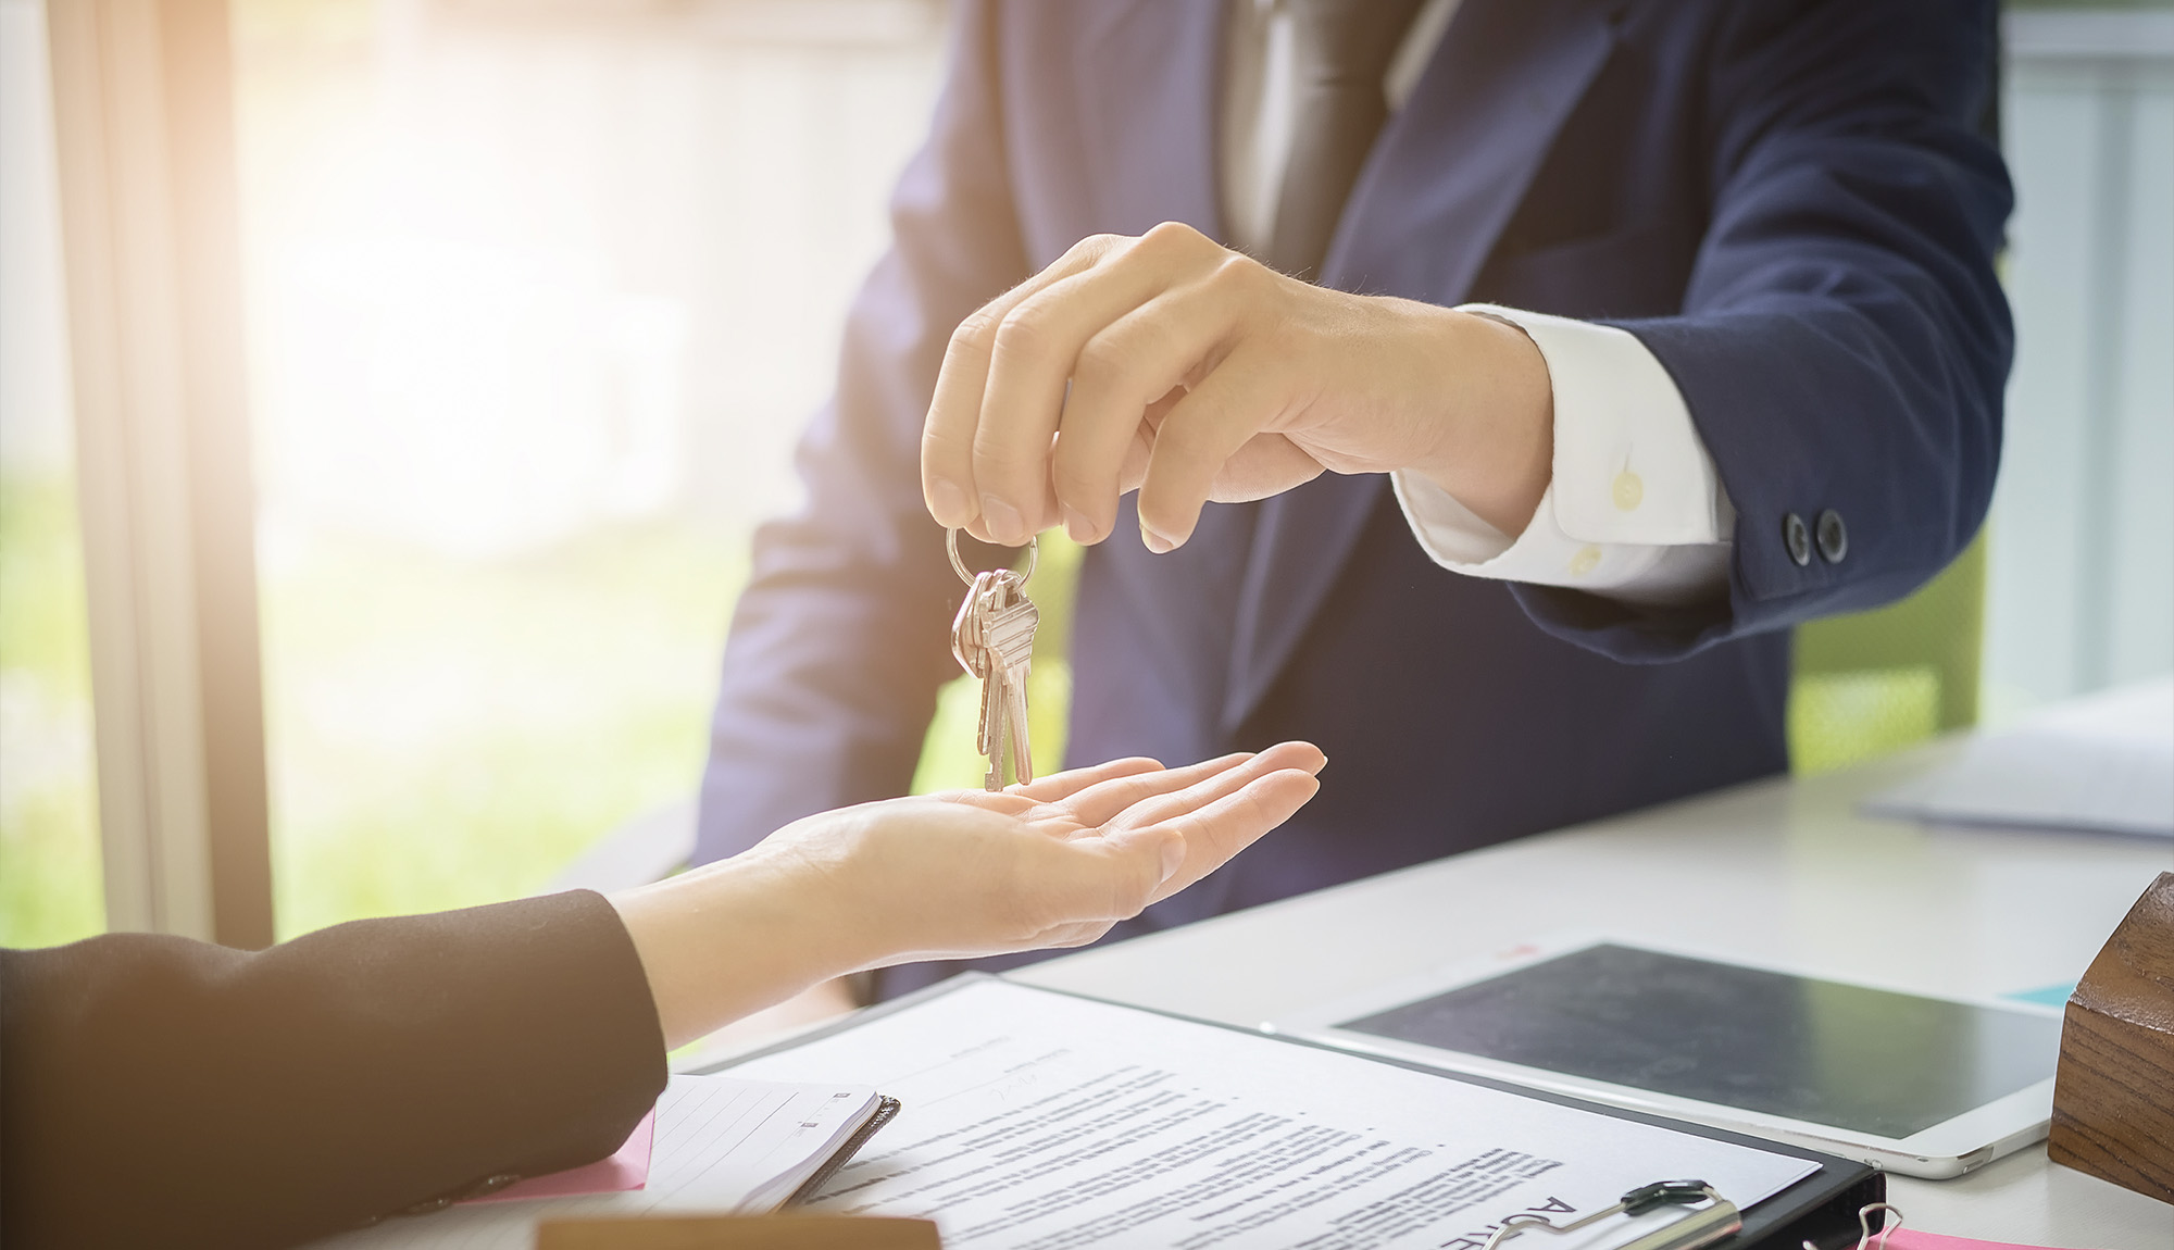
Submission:
[[[1244,0],[1241,0],[1244,2]],[[1291,152],[1276,198],[1276,228],[1261,257],[1285,274],[1315,276],[1344,200],[1389,117],[1380,78],[1422,0],[1285,0],[1291,7]]]

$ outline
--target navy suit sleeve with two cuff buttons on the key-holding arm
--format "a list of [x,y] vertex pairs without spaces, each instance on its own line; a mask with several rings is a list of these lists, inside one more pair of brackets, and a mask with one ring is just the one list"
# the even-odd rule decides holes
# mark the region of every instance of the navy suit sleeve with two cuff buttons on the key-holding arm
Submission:
[[[1994,22],[1987,0],[1726,9],[1683,313],[1615,324],[1683,391],[1735,504],[1728,593],[1657,611],[1517,587],[1541,628],[1678,659],[1902,598],[1978,530],[2013,352],[1994,274],[2013,193],[1978,128]],[[1824,513],[1841,550],[1789,541]]]

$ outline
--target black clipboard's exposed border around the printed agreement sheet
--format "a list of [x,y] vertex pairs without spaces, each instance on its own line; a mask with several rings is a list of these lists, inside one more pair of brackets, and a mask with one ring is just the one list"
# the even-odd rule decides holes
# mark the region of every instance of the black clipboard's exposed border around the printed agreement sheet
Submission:
[[[1102,1004],[1102,1007],[1115,1007],[1115,1009],[1130,1011],[1130,1013],[1144,1013],[1144,1015],[1154,1015],[1154,1017],[1163,1017],[1163,1020],[1176,1020],[1176,1022],[1185,1022],[1189,1026],[1213,1028],[1213,1030],[1222,1030],[1222,1033],[1233,1033],[1233,1035],[1239,1035],[1239,1037],[1248,1037],[1248,1039],[1257,1039],[1257,1041],[1267,1041],[1267,1043],[1274,1043],[1274,1046],[1307,1048],[1307,1050],[1313,1050],[1313,1052],[1333,1054],[1333,1057],[1337,1057],[1339,1063],[1387,1065],[1387,1067],[1398,1067],[1398,1070],[1424,1074],[1430,1080],[1448,1080],[1448,1083],[1461,1083],[1461,1085],[1476,1085],[1476,1087],[1483,1087],[1483,1089],[1496,1089],[1496,1091],[1511,1093],[1511,1096],[1517,1096],[1517,1098],[1530,1098],[1530,1100],[1537,1100],[1537,1102],[1567,1107],[1567,1109],[1574,1109],[1574,1111],[1580,1111],[1580,1113],[1589,1113],[1589,1115],[1598,1115],[1598,1117],[1624,1120],[1624,1122],[1633,1122],[1633,1124],[1650,1124],[1650,1126],[1665,1128],[1670,1133],[1678,1133],[1678,1135],[1685,1135],[1685,1137],[1704,1137],[1704,1139],[1711,1139],[1711,1141],[1726,1141],[1726,1143],[1733,1143],[1733,1146],[1744,1146],[1744,1148],[1761,1150],[1761,1152],[1767,1152],[1767,1154],[1778,1154],[1778,1157],[1789,1157],[1789,1159],[1802,1159],[1802,1161],[1815,1165],[1815,1170],[1811,1174],[1807,1174],[1804,1178],[1800,1178],[1794,1185],[1785,1187],[1783,1191],[1778,1191],[1778,1193],[1774,1193],[1774,1196],[1770,1196],[1770,1198],[1765,1198],[1761,1202],[1754,1202],[1754,1204],[1750,1204],[1750,1207],[1746,1207],[1741,1211],[1731,1211],[1733,1217],[1741,1220],[1741,1224],[1733,1233],[1707,1226],[1707,1237],[1704,1239],[1696,1239],[1696,1241],[1670,1241],[1670,1239],[1639,1241],[1639,1246],[1650,1246],[1652,1250],[1663,1250],[1663,1248],[1670,1248],[1670,1246],[1713,1246],[1713,1248],[1720,1248],[1720,1250],[1802,1250],[1807,1243],[1813,1246],[1813,1248],[1817,1248],[1817,1250],[1835,1250],[1835,1248],[1841,1248],[1841,1246],[1857,1246],[1859,1243],[1859,1230],[1861,1230],[1859,1213],[1865,1211],[1867,1207],[1885,1202],[1885,1196],[1887,1196],[1887,1178],[1885,1178],[1883,1172],[1876,1172],[1876,1170],[1872,1170],[1872,1167],[1867,1167],[1863,1163],[1852,1163],[1848,1159],[1837,1159],[1837,1157],[1831,1157],[1831,1154],[1820,1154],[1815,1150],[1804,1150],[1804,1148],[1798,1148],[1798,1146],[1785,1146],[1785,1143],[1776,1143],[1776,1141],[1765,1141],[1765,1139],[1746,1137],[1746,1135],[1728,1133],[1728,1130],[1720,1130],[1720,1128],[1707,1128],[1707,1126],[1698,1126],[1698,1124],[1685,1124],[1685,1122],[1676,1122],[1676,1120],[1667,1120],[1667,1117],[1659,1117],[1659,1115],[1646,1115],[1646,1113],[1637,1113],[1637,1111],[1622,1111],[1622,1109],[1615,1109],[1615,1107],[1600,1107],[1600,1104],[1585,1102],[1585,1100],[1578,1100],[1578,1098],[1567,1098],[1567,1096],[1548,1093],[1548,1091],[1535,1091],[1535,1089],[1526,1089],[1526,1087],[1520,1087],[1520,1085],[1511,1085],[1511,1083],[1504,1083],[1504,1080],[1491,1080],[1491,1078],[1483,1078],[1483,1076],[1467,1076],[1467,1074],[1441,1072],[1441,1070],[1435,1070],[1435,1067],[1426,1067],[1426,1065],[1409,1063],[1409,1061],[1400,1061],[1400,1059],[1376,1057],[1376,1054],[1354,1054],[1350,1050],[1341,1050],[1341,1048],[1335,1048],[1335,1046],[1324,1046],[1324,1043],[1317,1043],[1317,1041],[1307,1041],[1307,1039],[1300,1039],[1300,1037],[1285,1037],[1285,1035],[1274,1035],[1274,1033],[1259,1033],[1259,1030],[1239,1028],[1239,1026],[1233,1026],[1233,1024],[1220,1024],[1220,1022],[1211,1022],[1211,1020],[1196,1020],[1196,1017],[1189,1017],[1189,1015],[1183,1015],[1183,1013],[1174,1013],[1174,1011],[1157,1011],[1157,1009],[1135,1007],[1135,1004],[1128,1004],[1128,1002],[1113,1002],[1113,1000],[1089,996],[1089,993],[1072,993],[1072,991],[1061,991],[1061,989],[1028,987],[1024,983],[1015,983],[1015,980],[1007,980],[1007,978],[989,976],[989,974],[963,974],[963,976],[957,976],[952,980],[944,980],[944,983],[930,985],[930,987],[920,989],[915,993],[909,993],[904,998],[896,998],[891,1002],[883,1002],[883,1004],[863,1009],[863,1011],[859,1011],[854,1015],[848,1015],[848,1017],[837,1020],[833,1024],[813,1028],[813,1030],[802,1033],[798,1037],[789,1037],[789,1039],[778,1041],[774,1046],[765,1046],[761,1050],[752,1050],[748,1054],[733,1057],[728,1061],[711,1065],[707,1072],[724,1072],[724,1070],[730,1070],[730,1067],[739,1067],[744,1063],[754,1063],[754,1061],[765,1059],[765,1057],[787,1054],[791,1050],[800,1050],[804,1046],[824,1041],[828,1037],[839,1037],[839,1035],[852,1033],[857,1028],[865,1028],[865,1026],[870,1026],[870,1024],[874,1024],[878,1020],[885,1020],[889,1015],[913,1011],[915,1007],[922,1007],[922,1004],[926,1004],[930,1000],[937,1000],[937,998],[944,998],[944,996],[950,996],[950,993],[959,993],[961,989],[967,989],[967,987],[978,985],[978,983],[989,983],[989,980],[1009,985],[1013,989],[1026,989],[1030,993],[1050,993],[1050,996],[1070,998],[1070,1000],[1078,1000],[1078,1002],[1096,1002],[1096,1004]],[[1663,1180],[1663,1178],[1654,1176],[1654,1180]],[[1715,1198],[1717,1200],[1726,1200],[1724,1196],[1715,1196]],[[1689,1207],[1691,1204],[1687,1202],[1687,1213],[1691,1213]],[[1700,1211],[1707,1211],[1711,1207],[1713,1207],[1713,1202],[1698,1204]],[[1498,1243],[1504,1250],[1544,1250],[1552,1241],[1557,1241],[1557,1239],[1554,1237],[1546,1237],[1537,1226],[1526,1226],[1524,1230],[1520,1230],[1520,1235],[1500,1237],[1498,1239]]]

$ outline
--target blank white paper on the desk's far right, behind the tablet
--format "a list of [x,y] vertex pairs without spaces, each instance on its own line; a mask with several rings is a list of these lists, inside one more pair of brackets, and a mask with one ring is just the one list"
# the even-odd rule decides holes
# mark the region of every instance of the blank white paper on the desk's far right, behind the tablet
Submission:
[[1935,824],[2174,837],[2174,678],[2057,704],[1865,800]]

